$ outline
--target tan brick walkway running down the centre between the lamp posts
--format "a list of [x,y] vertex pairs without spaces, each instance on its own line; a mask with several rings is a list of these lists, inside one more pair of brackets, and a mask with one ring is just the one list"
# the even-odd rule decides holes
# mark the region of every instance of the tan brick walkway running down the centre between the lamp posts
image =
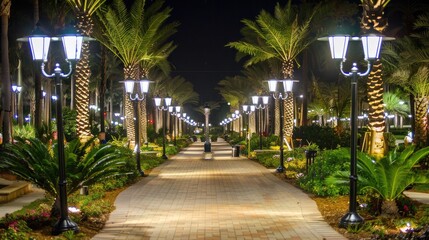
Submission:
[[123,191],[93,239],[345,239],[301,190],[212,143],[194,143]]

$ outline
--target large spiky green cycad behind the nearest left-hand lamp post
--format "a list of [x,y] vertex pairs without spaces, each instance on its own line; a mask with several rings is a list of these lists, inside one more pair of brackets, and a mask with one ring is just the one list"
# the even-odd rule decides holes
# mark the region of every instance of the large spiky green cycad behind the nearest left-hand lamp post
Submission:
[[[6,144],[0,156],[0,170],[9,171],[35,184],[48,195],[58,195],[59,170],[57,144],[43,144],[36,138],[19,138]],[[126,148],[109,144],[95,145],[94,140],[81,144],[78,139],[64,149],[67,173],[67,194],[83,185],[92,185],[106,178],[129,173],[128,159],[132,153]]]

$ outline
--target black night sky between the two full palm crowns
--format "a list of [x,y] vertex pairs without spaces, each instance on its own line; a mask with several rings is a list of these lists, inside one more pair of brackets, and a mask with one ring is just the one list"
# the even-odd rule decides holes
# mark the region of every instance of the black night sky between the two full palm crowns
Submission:
[[[171,54],[172,75],[180,75],[194,84],[201,104],[219,101],[214,88],[226,76],[239,74],[234,49],[228,42],[241,38],[243,18],[254,19],[261,9],[272,11],[275,0],[167,0],[173,8],[172,20],[180,22],[173,35],[177,49]],[[285,2],[285,1],[284,1]]]

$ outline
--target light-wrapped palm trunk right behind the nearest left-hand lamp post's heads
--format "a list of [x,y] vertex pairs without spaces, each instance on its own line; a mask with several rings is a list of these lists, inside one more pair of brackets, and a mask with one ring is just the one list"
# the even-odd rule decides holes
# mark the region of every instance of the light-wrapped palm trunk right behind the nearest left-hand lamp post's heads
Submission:
[[[94,27],[92,16],[105,3],[106,0],[67,0],[76,14],[76,27],[84,36],[91,36]],[[76,81],[76,110],[77,110],[77,134],[81,139],[88,139],[91,136],[89,122],[89,78],[91,70],[89,68],[89,42],[82,44],[82,55],[76,64],[74,74]]]

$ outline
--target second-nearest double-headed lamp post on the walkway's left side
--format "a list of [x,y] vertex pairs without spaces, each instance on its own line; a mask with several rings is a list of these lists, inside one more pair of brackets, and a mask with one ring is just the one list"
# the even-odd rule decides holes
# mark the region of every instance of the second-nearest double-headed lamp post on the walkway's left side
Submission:
[[[139,85],[139,88],[134,88],[135,85]],[[146,94],[149,92],[150,81],[144,80],[133,80],[127,79],[124,81],[125,92],[128,94],[130,101],[133,103],[134,110],[134,131],[135,131],[135,146],[134,150],[136,153],[136,166],[140,176],[144,176],[144,172],[140,165],[140,114],[139,114],[139,101],[143,101]]]

